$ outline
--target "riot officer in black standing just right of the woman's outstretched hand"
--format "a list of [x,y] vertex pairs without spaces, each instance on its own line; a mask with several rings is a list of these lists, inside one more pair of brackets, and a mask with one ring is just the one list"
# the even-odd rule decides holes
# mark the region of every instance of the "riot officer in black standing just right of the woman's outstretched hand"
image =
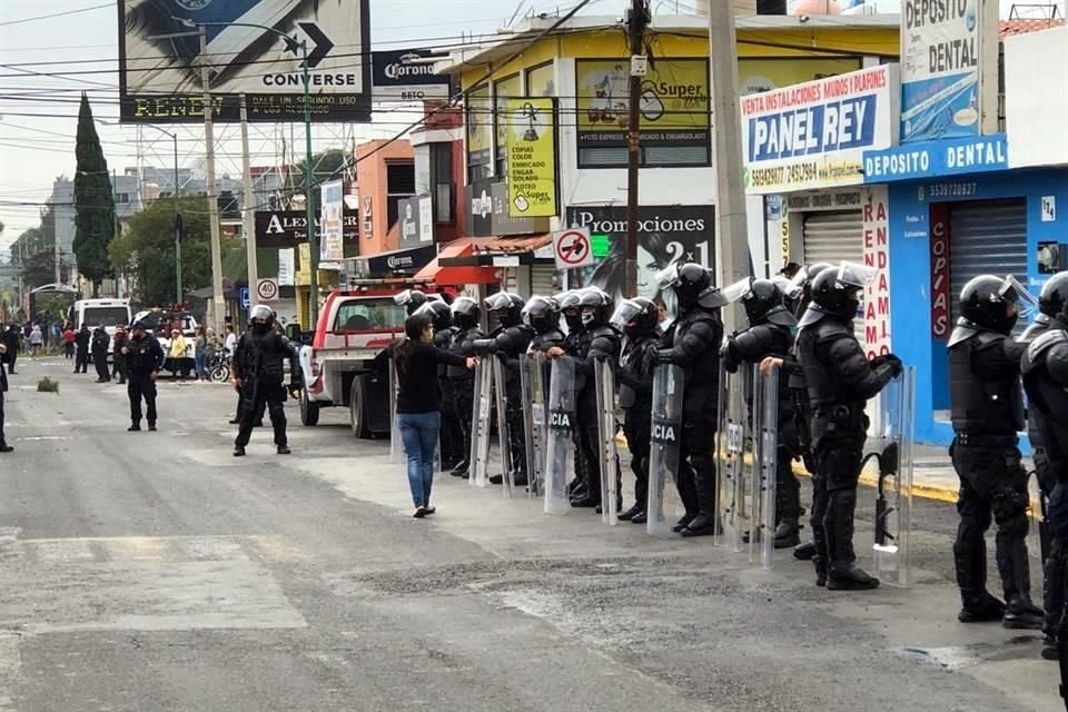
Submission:
[[[523,299],[514,294],[497,293],[486,299],[485,306],[488,312],[497,314],[501,326],[494,329],[488,338],[475,342],[475,350],[479,354],[492,354],[504,363],[504,415],[512,462],[503,465],[512,468],[516,486],[526,486],[526,435],[520,355],[525,354],[531,345],[534,329],[523,324]],[[501,433],[497,435],[504,436]],[[502,479],[501,475],[490,477],[490,482],[495,485],[501,484]]]

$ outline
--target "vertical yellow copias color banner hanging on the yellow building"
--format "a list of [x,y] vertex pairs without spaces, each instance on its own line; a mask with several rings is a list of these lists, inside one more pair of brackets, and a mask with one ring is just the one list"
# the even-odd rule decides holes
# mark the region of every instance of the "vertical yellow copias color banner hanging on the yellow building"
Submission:
[[556,215],[556,116],[553,99],[508,99],[508,215]]

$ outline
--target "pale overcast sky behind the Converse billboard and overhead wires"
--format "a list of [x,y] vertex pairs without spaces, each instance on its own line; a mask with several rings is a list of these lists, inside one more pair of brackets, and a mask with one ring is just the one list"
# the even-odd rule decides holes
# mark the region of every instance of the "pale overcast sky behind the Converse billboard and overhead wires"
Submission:
[[[566,10],[576,0],[524,0],[523,14]],[[511,18],[520,0],[370,0],[372,43],[375,49],[399,49],[419,44],[446,44],[461,41],[461,33],[487,33]],[[629,4],[625,0],[595,0],[590,13],[614,14]],[[680,0],[681,8],[692,4]],[[1061,13],[1065,1],[1060,0]],[[662,11],[672,9],[675,0],[655,0]],[[1012,2],[1001,0],[1002,14]],[[51,19],[26,21],[28,18],[67,13]],[[75,167],[73,134],[81,90],[93,100],[93,113],[103,120],[117,120],[118,28],[116,3],[107,0],[0,0],[0,200],[43,202],[51,194],[52,180],[72,175]],[[406,40],[411,40],[407,42]],[[88,62],[87,60],[100,60]],[[37,62],[30,65],[30,62]],[[56,63],[51,63],[56,62]],[[6,66],[4,66],[6,65]],[[67,78],[42,77],[48,72],[99,70]],[[27,90],[47,93],[37,98]],[[14,98],[12,95],[20,95]],[[42,115],[42,116],[27,116]],[[398,128],[397,116],[376,117],[376,125],[357,127],[356,138],[385,137]],[[411,120],[411,119],[408,119]],[[137,165],[137,131],[129,127],[99,126],[109,168],[121,172]],[[270,126],[255,126],[251,137],[253,164],[275,162],[276,142]],[[152,139],[145,129],[142,147],[146,164],[170,166],[170,139]],[[199,129],[181,134],[182,165],[198,166],[202,144]],[[237,126],[217,129],[217,137],[230,139],[220,148],[219,175],[240,175]],[[320,147],[338,145],[342,129],[318,132]],[[7,229],[0,248],[7,247],[23,230],[38,225],[36,206],[0,205],[0,221]]]

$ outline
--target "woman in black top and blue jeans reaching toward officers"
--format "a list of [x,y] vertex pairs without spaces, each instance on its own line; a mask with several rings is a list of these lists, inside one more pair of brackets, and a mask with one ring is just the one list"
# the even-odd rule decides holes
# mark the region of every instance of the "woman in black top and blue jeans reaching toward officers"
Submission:
[[394,350],[397,366],[397,427],[408,461],[408,485],[412,487],[413,516],[434,514],[431,486],[434,483],[434,452],[442,427],[442,395],[437,385],[437,366],[474,368],[477,359],[464,358],[435,347],[434,320],[428,312],[417,312],[404,323],[408,337]]

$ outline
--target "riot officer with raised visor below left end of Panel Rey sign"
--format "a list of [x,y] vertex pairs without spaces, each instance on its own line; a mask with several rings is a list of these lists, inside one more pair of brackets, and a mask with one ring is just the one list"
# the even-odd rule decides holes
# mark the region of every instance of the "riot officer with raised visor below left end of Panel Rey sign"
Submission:
[[[723,291],[732,301],[735,296],[741,299],[749,320],[748,329],[728,337],[722,352],[724,368],[736,373],[745,364],[751,372],[752,365],[760,364],[764,358],[785,358],[793,346],[792,329],[798,320],[783,305],[782,291],[768,279],[745,279]],[[779,378],[775,548],[787,548],[800,542],[798,520],[801,516],[801,484],[793,474],[793,458],[801,448],[795,427],[797,413],[788,385],[789,374],[780,372]],[[750,408],[753,403],[752,390],[750,387],[745,393]]]

